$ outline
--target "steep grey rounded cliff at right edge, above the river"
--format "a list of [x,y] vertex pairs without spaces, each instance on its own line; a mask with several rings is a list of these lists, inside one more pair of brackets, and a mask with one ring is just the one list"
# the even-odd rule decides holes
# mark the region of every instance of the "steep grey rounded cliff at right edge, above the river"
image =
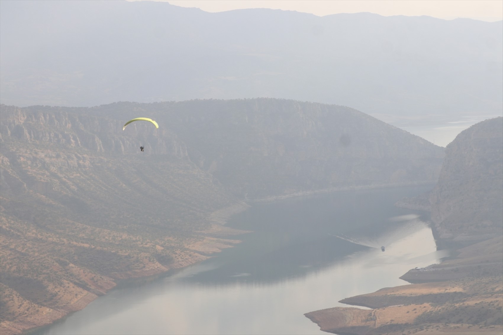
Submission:
[[474,241],[503,233],[503,118],[477,123],[447,146],[430,202],[441,238]]

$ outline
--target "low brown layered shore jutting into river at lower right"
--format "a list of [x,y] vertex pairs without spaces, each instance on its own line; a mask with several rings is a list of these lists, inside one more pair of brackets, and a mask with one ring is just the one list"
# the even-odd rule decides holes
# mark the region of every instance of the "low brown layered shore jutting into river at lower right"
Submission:
[[[502,244],[501,236],[496,236],[458,248],[455,257],[400,277],[411,284],[348,297],[339,301],[348,307],[304,315],[322,331],[348,335],[471,333],[472,327],[480,334],[500,334]],[[486,314],[476,321],[475,311]]]

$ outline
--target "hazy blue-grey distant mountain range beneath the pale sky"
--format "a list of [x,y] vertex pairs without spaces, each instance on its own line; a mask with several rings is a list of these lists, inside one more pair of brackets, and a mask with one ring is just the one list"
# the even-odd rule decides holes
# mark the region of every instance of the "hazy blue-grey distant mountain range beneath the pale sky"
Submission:
[[[286,98],[397,126],[503,114],[503,23],[2,2],[2,103]],[[433,121],[432,121],[433,120]]]

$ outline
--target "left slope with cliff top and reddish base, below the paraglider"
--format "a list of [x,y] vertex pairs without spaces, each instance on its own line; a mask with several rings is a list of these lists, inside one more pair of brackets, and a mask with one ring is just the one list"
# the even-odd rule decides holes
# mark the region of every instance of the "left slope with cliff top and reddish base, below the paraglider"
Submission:
[[[232,245],[194,232],[212,228],[213,211],[242,205],[175,135],[143,125],[122,133],[117,121],[63,111],[1,114],[2,334],[83,308],[115,279]],[[141,131],[153,143],[144,154]]]

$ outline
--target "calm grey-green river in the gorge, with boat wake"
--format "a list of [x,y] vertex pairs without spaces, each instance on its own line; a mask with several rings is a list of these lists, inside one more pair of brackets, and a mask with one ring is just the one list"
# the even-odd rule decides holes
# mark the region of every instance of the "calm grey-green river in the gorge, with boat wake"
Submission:
[[[439,263],[425,213],[396,208],[432,187],[345,191],[254,204],[229,226],[253,230],[215,257],[119,285],[41,334],[316,334],[303,314]],[[385,246],[385,251],[381,251]]]

